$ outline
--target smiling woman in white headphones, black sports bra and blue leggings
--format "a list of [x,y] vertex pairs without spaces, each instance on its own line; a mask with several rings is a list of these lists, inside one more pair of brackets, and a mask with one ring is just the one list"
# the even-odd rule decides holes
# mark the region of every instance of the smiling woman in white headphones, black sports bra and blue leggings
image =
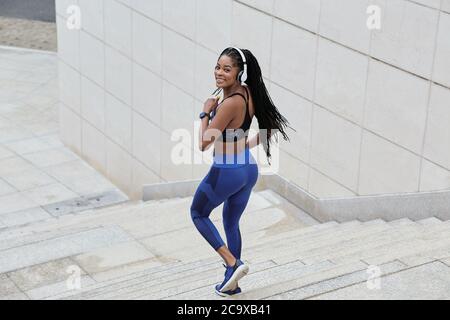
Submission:
[[[241,292],[238,281],[249,271],[247,263],[241,260],[239,231],[239,219],[258,179],[258,165],[249,150],[262,142],[269,160],[271,132],[280,131],[288,140],[284,131],[288,121],[273,104],[258,61],[249,50],[225,49],[214,74],[224,99],[220,105],[217,97],[206,100],[199,130],[201,151],[214,143],[214,162],[198,186],[190,209],[198,231],[226,263],[225,278],[216,285],[215,292],[229,296]],[[253,116],[258,120],[260,132],[247,140]],[[228,247],[209,219],[211,211],[221,203]]]

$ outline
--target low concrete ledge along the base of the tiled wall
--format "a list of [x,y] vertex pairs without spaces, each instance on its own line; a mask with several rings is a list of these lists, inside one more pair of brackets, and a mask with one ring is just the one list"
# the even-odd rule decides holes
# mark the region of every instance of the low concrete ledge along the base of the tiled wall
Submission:
[[[187,180],[145,185],[143,200],[193,196],[200,182]],[[450,219],[450,190],[318,199],[277,174],[259,176],[254,191],[265,189],[278,193],[320,222]]]

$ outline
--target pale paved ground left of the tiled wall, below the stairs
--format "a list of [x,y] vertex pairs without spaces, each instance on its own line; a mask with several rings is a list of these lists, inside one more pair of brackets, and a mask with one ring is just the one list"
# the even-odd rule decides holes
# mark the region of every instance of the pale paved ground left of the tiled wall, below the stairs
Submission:
[[0,229],[57,216],[52,205],[70,210],[64,201],[121,194],[58,131],[56,54],[0,47]]

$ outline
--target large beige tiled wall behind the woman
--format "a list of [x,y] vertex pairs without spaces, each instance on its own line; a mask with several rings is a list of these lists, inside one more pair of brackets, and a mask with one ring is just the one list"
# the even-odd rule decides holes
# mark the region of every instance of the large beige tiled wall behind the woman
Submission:
[[450,188],[449,0],[56,2],[61,138],[132,197],[206,174],[172,153],[199,155],[194,122],[230,45],[255,54],[297,130],[278,174],[318,198]]

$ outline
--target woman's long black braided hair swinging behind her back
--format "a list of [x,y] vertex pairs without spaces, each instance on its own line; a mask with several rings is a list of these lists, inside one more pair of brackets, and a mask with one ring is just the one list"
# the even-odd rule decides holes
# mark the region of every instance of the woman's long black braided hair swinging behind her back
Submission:
[[[278,142],[278,135],[276,134],[278,131],[283,135],[283,139],[285,141],[289,141],[289,137],[286,134],[285,128],[289,127],[289,121],[278,111],[277,107],[274,105],[268,91],[266,85],[264,84],[264,80],[262,77],[261,68],[259,67],[258,60],[255,56],[247,49],[241,49],[241,51],[245,55],[245,59],[247,60],[247,80],[245,83],[249,86],[253,102],[255,105],[255,117],[258,120],[259,126],[259,139],[263,144],[264,151],[266,152],[267,161],[270,164],[270,143],[272,137],[275,137]],[[240,70],[244,70],[244,62],[242,61],[242,57],[239,52],[232,48],[226,48],[219,56],[226,55],[230,57]],[[266,129],[267,133],[263,136],[263,132],[261,129]],[[272,130],[274,130],[275,134],[271,134]],[[295,129],[293,129],[296,131]]]

